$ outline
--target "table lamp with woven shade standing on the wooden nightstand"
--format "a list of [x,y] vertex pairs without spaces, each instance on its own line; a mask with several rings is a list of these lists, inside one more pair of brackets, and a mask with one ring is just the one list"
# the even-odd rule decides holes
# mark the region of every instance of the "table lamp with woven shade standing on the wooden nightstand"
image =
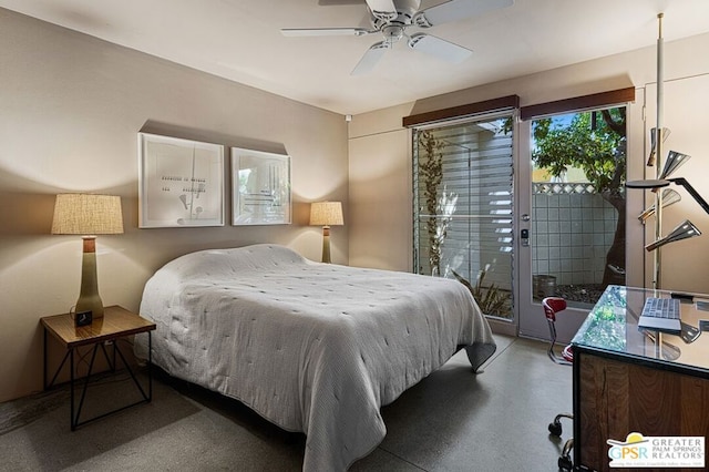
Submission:
[[52,234],[82,235],[81,290],[75,312],[103,317],[96,277],[96,235],[123,233],[121,197],[93,194],[59,194],[54,204]]

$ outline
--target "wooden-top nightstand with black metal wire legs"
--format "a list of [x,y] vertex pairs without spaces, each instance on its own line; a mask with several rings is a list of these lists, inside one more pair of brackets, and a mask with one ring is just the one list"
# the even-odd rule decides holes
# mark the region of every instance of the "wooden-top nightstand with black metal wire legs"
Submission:
[[[56,381],[56,377],[61,372],[62,368],[66,363],[66,359],[69,359],[70,366],[70,389],[71,389],[71,430],[75,430],[78,427],[85,424],[90,421],[97,420],[100,418],[106,417],[109,414],[116,413],[119,411],[125,410],[126,408],[134,407],[141,403],[148,403],[153,397],[153,377],[151,372],[152,365],[152,332],[155,329],[155,324],[146,320],[145,318],[141,318],[138,315],[126,310],[125,308],[119,306],[105,307],[104,316],[101,319],[94,320],[91,325],[75,327],[74,320],[70,314],[64,315],[54,315],[40,318],[40,322],[44,327],[44,368],[43,368],[43,384],[44,390],[51,388]],[[126,361],[123,352],[115,342],[119,338],[123,338],[125,336],[137,335],[140,332],[147,332],[147,346],[148,346],[148,359],[147,359],[147,392],[141,386],[137,377],[133,373],[131,366]],[[64,348],[66,348],[66,353],[62,359],[54,377],[50,382],[47,381],[47,340],[48,335],[52,335],[55,339],[58,339]],[[113,359],[110,358],[109,352],[106,352],[106,345],[113,345]],[[86,378],[84,381],[84,387],[82,389],[81,399],[79,401],[79,406],[75,406],[74,401],[74,377],[75,377],[75,366],[74,366],[74,351],[76,348],[81,346],[93,346],[93,350],[91,352],[91,361],[89,363],[89,372],[86,373]],[[109,362],[109,367],[111,370],[115,371],[116,368],[116,353],[123,361],[125,369],[131,374],[133,382],[141,392],[142,400],[127,404],[125,407],[121,407],[119,409],[109,411],[106,413],[100,414],[97,417],[93,417],[91,419],[80,421],[79,417],[81,415],[81,408],[83,406],[84,398],[86,396],[86,389],[89,387],[89,378],[91,377],[94,360],[96,358],[96,352],[101,350]]]

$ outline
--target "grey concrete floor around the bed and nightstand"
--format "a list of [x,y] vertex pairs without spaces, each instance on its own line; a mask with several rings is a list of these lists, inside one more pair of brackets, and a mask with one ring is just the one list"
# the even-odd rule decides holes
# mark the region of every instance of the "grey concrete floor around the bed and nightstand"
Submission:
[[[471,373],[459,352],[382,408],[386,439],[350,470],[556,471],[563,441],[546,428],[556,413],[571,411],[572,370],[549,361],[543,342],[496,339],[483,373]],[[90,396],[103,389],[130,401],[131,387],[117,374],[92,386]],[[571,435],[565,427],[564,439]],[[2,471],[299,471],[304,448],[302,434],[162,377],[152,403],[74,432],[66,388],[0,404]]]

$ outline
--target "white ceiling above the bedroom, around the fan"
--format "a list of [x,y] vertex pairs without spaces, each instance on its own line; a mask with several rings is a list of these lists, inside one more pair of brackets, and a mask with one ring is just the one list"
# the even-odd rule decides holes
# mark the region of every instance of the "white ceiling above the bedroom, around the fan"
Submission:
[[[422,0],[421,9],[438,3]],[[654,45],[658,12],[665,41],[709,32],[709,0],[515,0],[427,31],[472,49],[461,64],[402,42],[373,72],[352,76],[379,34],[286,38],[279,30],[369,28],[364,0],[0,0],[0,7],[341,114]]]

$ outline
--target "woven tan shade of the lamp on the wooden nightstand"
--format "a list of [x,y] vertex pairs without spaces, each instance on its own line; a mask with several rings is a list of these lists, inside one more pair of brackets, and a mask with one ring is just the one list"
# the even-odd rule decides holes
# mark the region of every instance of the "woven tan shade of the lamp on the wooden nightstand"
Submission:
[[123,233],[121,197],[94,194],[59,194],[52,234],[115,235]]

